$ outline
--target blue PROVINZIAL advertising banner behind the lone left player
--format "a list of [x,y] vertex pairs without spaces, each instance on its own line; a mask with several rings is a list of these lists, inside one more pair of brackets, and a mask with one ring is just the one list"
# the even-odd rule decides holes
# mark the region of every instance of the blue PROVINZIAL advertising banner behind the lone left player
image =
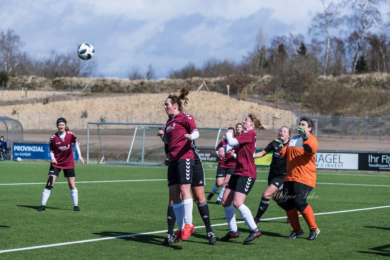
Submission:
[[[32,160],[49,160],[49,143],[13,143],[12,157]],[[73,160],[78,161],[78,154],[73,146]]]

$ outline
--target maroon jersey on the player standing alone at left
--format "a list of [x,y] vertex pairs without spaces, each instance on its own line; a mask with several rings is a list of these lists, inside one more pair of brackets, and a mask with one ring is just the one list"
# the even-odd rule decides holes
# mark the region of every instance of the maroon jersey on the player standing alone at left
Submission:
[[64,139],[58,136],[58,132],[50,137],[50,152],[54,153],[54,158],[57,160],[57,164],[50,163],[56,168],[60,169],[73,169],[73,145],[76,143],[76,136],[74,133],[65,131]]

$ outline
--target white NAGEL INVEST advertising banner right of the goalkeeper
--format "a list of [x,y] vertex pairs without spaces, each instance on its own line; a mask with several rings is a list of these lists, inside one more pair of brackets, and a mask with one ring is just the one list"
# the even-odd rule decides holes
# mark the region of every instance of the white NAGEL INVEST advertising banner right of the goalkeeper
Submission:
[[358,170],[359,154],[317,152],[317,169]]

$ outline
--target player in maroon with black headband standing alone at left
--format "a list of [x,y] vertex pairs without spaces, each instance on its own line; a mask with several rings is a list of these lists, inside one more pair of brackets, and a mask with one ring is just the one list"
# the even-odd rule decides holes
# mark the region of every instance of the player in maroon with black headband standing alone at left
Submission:
[[45,205],[50,196],[50,191],[53,188],[55,180],[57,179],[61,169],[64,171],[64,177],[67,177],[69,188],[71,189],[71,197],[74,205],[73,210],[80,211],[80,208],[78,207],[78,193],[74,183],[75,172],[72,145],[76,148],[78,159],[83,165],[84,159],[81,157],[80,147],[78,146],[76,136],[74,133],[69,131],[64,118],[60,117],[57,119],[57,129],[58,132],[50,137],[51,163],[49,177],[46,187],[43,189],[42,203],[38,211],[45,210]]

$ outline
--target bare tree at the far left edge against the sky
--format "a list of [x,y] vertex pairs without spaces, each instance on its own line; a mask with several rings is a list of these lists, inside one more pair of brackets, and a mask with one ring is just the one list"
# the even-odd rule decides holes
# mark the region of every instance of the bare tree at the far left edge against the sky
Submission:
[[16,35],[14,30],[8,28],[7,32],[4,32],[4,30],[0,32],[1,70],[11,74],[20,64],[22,56],[21,47],[23,45],[24,43],[20,41],[20,36]]

